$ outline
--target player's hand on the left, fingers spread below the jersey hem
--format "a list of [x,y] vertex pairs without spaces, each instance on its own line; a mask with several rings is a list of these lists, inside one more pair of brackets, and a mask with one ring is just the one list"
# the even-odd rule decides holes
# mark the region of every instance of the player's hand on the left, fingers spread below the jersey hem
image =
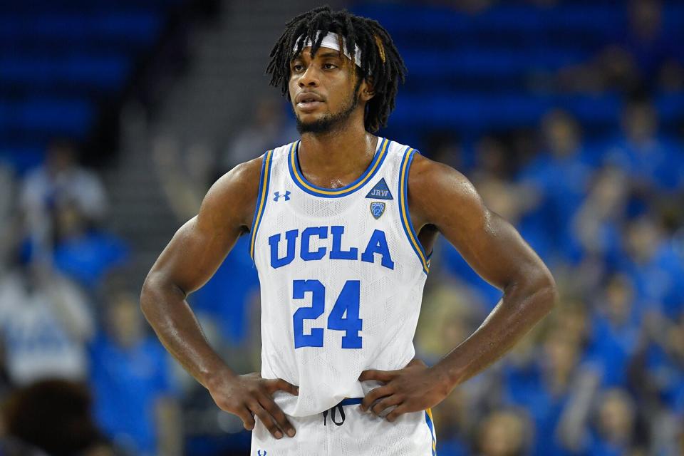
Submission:
[[283,432],[294,437],[294,427],[271,397],[279,390],[299,395],[299,388],[295,385],[281,378],[267,380],[258,373],[222,375],[209,385],[209,393],[216,405],[221,410],[239,416],[245,429],[254,429],[254,415],[257,415],[276,439],[283,437]]

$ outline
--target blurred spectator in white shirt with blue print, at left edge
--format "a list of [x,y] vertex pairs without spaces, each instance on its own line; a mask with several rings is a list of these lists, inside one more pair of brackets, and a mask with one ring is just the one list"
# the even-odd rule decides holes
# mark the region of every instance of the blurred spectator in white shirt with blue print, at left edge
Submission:
[[0,280],[0,331],[16,385],[40,378],[86,378],[95,331],[83,293],[41,261],[26,259]]

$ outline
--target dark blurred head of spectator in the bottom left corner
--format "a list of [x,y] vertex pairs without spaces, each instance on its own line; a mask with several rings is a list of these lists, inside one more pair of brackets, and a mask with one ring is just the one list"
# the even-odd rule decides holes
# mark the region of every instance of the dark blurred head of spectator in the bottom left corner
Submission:
[[43,380],[16,390],[7,403],[4,418],[8,434],[21,441],[6,443],[9,455],[17,447],[22,447],[21,452],[14,454],[43,454],[28,449],[26,444],[51,456],[114,455],[93,422],[90,393],[80,383]]

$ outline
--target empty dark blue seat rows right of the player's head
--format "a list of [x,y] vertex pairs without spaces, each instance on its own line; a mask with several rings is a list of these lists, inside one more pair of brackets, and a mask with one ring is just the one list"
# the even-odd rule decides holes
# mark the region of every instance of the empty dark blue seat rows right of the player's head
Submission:
[[[590,61],[597,48],[621,42],[626,9],[606,1],[549,8],[507,2],[467,14],[434,3],[369,2],[353,9],[388,28],[410,69],[390,133],[415,128],[417,121],[423,130],[448,128],[475,134],[534,127],[541,113],[556,106],[594,127],[618,125],[620,94],[559,95],[550,89],[541,92],[544,84],[539,82],[561,68]],[[664,8],[663,28],[681,37],[684,4],[665,2]],[[530,89],[521,90],[525,87]],[[655,94],[665,128],[683,117],[683,101],[681,93]]]

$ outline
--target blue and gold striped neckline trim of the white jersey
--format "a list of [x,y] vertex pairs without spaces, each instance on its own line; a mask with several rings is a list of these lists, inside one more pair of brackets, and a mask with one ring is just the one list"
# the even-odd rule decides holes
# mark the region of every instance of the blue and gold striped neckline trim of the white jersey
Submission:
[[287,167],[290,171],[290,177],[294,181],[295,185],[301,188],[301,190],[304,190],[304,192],[309,193],[309,195],[323,198],[337,198],[351,195],[353,192],[356,192],[356,190],[366,185],[368,181],[373,179],[373,176],[378,172],[378,170],[380,170],[380,167],[385,161],[385,157],[388,155],[387,150],[390,141],[382,138],[378,142],[378,149],[375,150],[373,160],[371,161],[371,164],[368,165],[368,168],[366,168],[366,171],[364,171],[363,174],[354,182],[339,188],[318,187],[317,185],[314,185],[306,180],[306,177],[304,177],[304,174],[301,172],[301,168],[299,167],[299,158],[297,156],[300,143],[301,141],[293,143],[293,145],[290,147],[290,152],[287,157]]

